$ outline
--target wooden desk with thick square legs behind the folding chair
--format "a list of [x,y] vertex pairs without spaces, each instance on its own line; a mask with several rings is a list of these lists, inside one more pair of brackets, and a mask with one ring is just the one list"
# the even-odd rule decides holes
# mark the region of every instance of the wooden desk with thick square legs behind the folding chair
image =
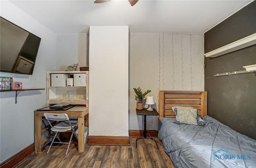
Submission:
[[[88,126],[88,113],[89,108],[83,106],[75,106],[71,109],[65,111],[42,111],[35,110],[35,152],[41,152],[41,126],[42,126],[42,117],[44,117],[44,113],[66,113],[69,117],[78,117],[78,152],[84,152],[84,127]],[[86,117],[86,123],[84,123],[84,117]]]

